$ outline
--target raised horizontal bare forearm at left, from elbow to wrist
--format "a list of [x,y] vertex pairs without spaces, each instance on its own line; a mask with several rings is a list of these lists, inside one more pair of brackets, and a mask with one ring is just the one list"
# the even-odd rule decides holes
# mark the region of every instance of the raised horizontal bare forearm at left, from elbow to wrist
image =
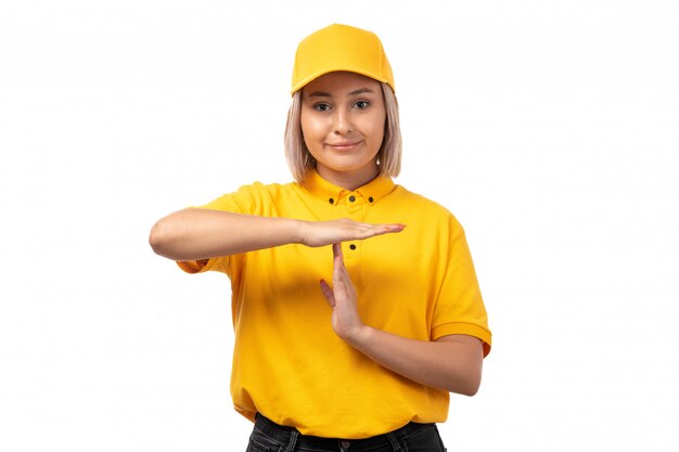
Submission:
[[198,260],[297,243],[299,221],[189,208],[162,218],[149,243],[172,260]]

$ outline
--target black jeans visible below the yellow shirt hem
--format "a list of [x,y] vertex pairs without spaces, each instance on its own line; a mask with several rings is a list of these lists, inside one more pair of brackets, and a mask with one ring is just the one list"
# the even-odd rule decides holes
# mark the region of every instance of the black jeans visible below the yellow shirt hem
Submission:
[[246,452],[446,452],[436,424],[410,423],[366,439],[302,435],[257,414]]

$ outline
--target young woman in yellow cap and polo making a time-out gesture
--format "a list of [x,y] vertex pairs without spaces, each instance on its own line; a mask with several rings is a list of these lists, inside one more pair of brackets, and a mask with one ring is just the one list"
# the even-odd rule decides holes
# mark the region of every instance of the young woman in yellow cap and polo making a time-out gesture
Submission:
[[372,33],[299,44],[285,152],[254,183],[161,219],[150,242],[231,280],[234,408],[248,451],[443,451],[449,392],[473,396],[490,332],[462,227],[402,186],[392,69]]

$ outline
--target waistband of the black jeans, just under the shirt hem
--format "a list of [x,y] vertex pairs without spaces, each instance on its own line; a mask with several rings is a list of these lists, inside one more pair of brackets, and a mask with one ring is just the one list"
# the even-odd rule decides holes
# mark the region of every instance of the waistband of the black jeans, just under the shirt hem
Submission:
[[398,443],[402,442],[406,438],[417,434],[423,428],[433,425],[434,424],[420,424],[410,422],[401,428],[389,431],[388,434],[377,435],[364,439],[342,439],[302,435],[296,428],[278,425],[259,413],[257,413],[255,421],[256,429],[282,444],[290,445],[290,442],[292,441],[294,442],[294,444],[292,444],[293,448],[341,451],[350,450],[353,452],[384,447],[393,447],[394,450],[401,450]]

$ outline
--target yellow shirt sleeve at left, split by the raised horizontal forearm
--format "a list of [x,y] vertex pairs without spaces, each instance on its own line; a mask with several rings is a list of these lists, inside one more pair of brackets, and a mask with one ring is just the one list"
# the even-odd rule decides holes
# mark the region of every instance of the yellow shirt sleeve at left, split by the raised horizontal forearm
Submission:
[[[202,206],[193,208],[230,211],[234,214],[261,215],[262,198],[266,188],[259,182],[252,185],[243,185],[236,192],[228,193],[210,201]],[[226,273],[229,277],[238,271],[244,259],[244,254],[220,256],[202,260],[178,261],[179,268],[187,273],[203,273],[207,271],[218,271]]]

